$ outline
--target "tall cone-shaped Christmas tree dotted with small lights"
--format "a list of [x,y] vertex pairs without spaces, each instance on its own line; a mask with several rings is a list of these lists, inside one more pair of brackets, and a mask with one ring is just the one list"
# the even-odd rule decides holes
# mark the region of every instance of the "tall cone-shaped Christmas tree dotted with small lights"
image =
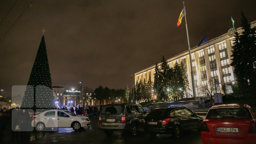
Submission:
[[21,103],[21,108],[54,108],[54,94],[52,90],[52,79],[48,64],[46,44],[44,36],[39,45],[36,59],[26,91]]

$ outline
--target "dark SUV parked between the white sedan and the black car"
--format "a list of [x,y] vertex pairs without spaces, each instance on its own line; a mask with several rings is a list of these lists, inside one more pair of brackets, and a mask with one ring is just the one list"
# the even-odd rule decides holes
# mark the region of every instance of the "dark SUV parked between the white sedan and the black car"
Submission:
[[146,114],[144,108],[135,103],[105,105],[99,117],[98,128],[108,136],[114,130],[130,130],[132,135],[137,135],[138,128],[145,125]]

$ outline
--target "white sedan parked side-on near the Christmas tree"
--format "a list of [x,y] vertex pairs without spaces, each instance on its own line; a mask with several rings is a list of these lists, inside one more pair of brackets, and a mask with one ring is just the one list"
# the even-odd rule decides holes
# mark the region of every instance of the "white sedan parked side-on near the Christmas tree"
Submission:
[[86,116],[79,116],[67,110],[48,110],[33,117],[32,127],[37,131],[44,131],[46,128],[72,127],[78,130],[88,127],[91,121]]

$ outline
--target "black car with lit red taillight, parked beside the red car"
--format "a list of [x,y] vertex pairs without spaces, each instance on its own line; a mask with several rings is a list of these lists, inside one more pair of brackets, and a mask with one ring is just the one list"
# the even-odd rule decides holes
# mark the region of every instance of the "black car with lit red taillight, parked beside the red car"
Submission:
[[172,134],[178,138],[181,132],[200,129],[203,118],[184,106],[156,108],[151,110],[145,119],[145,132],[156,134]]

